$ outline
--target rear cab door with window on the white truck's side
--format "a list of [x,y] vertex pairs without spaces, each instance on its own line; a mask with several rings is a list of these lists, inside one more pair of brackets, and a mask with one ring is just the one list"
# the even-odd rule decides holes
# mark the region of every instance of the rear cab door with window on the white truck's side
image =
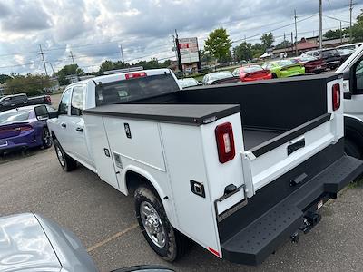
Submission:
[[69,152],[81,162],[93,167],[90,152],[87,148],[84,130],[83,109],[85,105],[86,85],[76,85],[72,91],[71,109],[68,116],[67,129]]

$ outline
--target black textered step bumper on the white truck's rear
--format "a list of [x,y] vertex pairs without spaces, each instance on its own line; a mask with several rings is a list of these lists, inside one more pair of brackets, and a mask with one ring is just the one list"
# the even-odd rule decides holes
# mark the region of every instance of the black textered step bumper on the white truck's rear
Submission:
[[[291,178],[289,178],[289,175],[285,177],[289,180],[279,180],[281,194],[286,194],[289,190],[292,190],[292,192],[275,203],[270,199],[265,199],[265,202],[267,202],[267,206],[265,205],[267,209],[265,210],[257,209],[256,204],[259,204],[259,201],[258,203],[256,201],[252,203],[252,212],[254,210],[260,215],[251,216],[250,211],[244,213],[241,209],[240,216],[244,216],[243,218],[235,216],[234,219],[229,219],[230,222],[227,223],[231,224],[234,221],[236,225],[240,224],[241,227],[240,229],[233,229],[234,234],[230,237],[221,237],[223,257],[235,263],[259,265],[266,257],[289,240],[292,234],[304,227],[304,219],[307,213],[316,212],[318,209],[317,203],[320,200],[335,199],[338,191],[343,189],[348,182],[357,178],[362,171],[363,161],[348,156],[340,156],[338,160],[329,164],[327,168],[321,170],[311,179],[309,179],[310,175],[307,171],[309,180],[303,180],[297,185],[290,185]],[[296,189],[293,189],[293,187]],[[271,199],[274,198],[273,193],[276,193],[276,191],[270,189]],[[264,193],[262,192],[262,194]],[[253,202],[253,198],[251,200]],[[243,209],[248,209],[249,205],[250,203]],[[260,203],[260,205],[264,204]],[[253,209],[253,206],[255,206],[255,209]],[[249,222],[243,225],[243,223],[240,223],[243,220]],[[220,231],[226,231],[226,227],[219,227]],[[223,234],[220,233],[220,236],[223,236]]]

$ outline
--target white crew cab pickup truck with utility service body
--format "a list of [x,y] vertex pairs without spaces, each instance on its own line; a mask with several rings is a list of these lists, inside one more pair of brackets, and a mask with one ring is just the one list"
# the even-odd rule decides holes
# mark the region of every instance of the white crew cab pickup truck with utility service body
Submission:
[[64,170],[81,163],[133,194],[164,259],[191,239],[258,265],[363,170],[344,153],[342,83],[322,74],[181,91],[168,69],[111,74],[69,85],[48,126]]

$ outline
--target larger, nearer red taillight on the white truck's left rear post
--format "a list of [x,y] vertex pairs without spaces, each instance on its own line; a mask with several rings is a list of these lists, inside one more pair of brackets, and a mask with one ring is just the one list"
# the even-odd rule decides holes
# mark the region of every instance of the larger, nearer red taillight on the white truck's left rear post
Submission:
[[215,129],[218,158],[221,163],[232,160],[236,154],[231,122],[218,125]]

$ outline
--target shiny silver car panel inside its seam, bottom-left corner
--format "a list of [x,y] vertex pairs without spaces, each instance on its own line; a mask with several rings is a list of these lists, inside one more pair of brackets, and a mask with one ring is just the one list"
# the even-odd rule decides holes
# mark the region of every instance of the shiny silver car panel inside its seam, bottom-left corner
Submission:
[[0,218],[0,271],[60,271],[54,249],[32,213]]

